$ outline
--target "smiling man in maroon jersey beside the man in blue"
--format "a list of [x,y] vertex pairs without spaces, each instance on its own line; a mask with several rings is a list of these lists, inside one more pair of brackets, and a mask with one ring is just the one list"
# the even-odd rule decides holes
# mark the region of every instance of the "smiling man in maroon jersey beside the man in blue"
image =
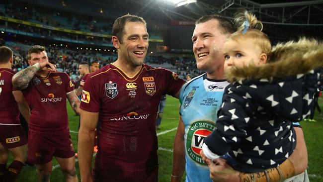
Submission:
[[118,59],[91,73],[81,95],[81,181],[92,182],[91,148],[100,121],[93,181],[157,182],[159,101],[163,94],[178,97],[185,81],[166,69],[143,64],[148,49],[143,18],[130,14],[117,18],[112,34]]

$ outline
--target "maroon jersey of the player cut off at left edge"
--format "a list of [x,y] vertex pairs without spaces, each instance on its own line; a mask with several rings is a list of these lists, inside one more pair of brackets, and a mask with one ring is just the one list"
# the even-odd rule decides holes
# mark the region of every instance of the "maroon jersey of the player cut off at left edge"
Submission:
[[20,124],[18,105],[12,94],[14,74],[9,68],[0,68],[0,124]]

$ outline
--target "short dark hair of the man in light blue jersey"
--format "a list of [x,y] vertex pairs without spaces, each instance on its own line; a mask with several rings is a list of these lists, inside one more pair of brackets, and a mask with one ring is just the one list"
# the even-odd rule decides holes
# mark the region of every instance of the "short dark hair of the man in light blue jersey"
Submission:
[[207,22],[212,19],[219,21],[219,28],[222,33],[228,34],[234,33],[236,31],[234,23],[229,18],[223,17],[219,14],[204,15],[195,21],[195,25]]

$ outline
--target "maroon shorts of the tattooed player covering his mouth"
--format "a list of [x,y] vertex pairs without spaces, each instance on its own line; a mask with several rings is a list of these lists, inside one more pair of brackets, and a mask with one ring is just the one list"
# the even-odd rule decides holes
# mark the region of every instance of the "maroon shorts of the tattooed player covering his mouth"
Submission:
[[75,155],[69,132],[28,132],[28,162],[42,165],[53,158],[71,158]]

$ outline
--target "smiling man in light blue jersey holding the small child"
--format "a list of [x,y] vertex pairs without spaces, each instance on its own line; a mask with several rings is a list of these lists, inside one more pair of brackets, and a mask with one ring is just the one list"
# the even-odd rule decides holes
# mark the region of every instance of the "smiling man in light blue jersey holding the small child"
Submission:
[[[197,69],[206,73],[186,83],[180,91],[180,119],[174,140],[171,182],[180,182],[184,169],[185,182],[240,182],[239,172],[226,165],[225,160],[221,161],[221,166],[208,163],[211,180],[208,165],[200,156],[203,140],[215,127],[223,91],[229,84],[225,80],[222,49],[225,40],[234,31],[231,21],[222,16],[207,15],[196,21],[192,36],[193,52]],[[303,136],[300,128],[295,131]],[[303,137],[297,140],[294,153],[305,156],[295,170],[305,170],[307,151]]]

